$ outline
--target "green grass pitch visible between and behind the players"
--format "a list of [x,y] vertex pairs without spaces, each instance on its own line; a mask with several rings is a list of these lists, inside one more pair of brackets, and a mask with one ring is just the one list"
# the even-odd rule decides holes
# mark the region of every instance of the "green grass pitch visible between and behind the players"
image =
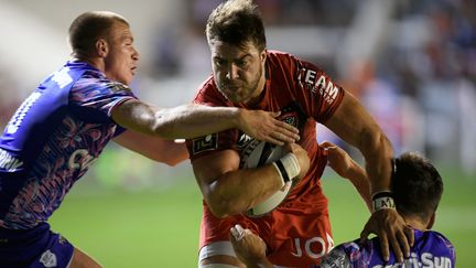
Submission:
[[[455,245],[456,267],[469,268],[476,266],[476,181],[456,176],[443,172],[445,192],[434,229]],[[105,267],[196,267],[202,199],[192,178],[162,191],[88,191],[83,183],[51,218],[54,231]],[[332,173],[324,191],[335,243],[357,237],[369,215],[357,193]]]

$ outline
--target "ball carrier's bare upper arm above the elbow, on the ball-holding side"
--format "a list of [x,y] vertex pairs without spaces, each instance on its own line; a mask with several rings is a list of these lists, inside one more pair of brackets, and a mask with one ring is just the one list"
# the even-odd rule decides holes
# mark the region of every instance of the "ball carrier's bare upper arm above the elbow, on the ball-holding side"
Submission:
[[223,150],[194,160],[193,170],[204,196],[210,191],[213,182],[238,170],[239,161],[239,154],[235,150]]

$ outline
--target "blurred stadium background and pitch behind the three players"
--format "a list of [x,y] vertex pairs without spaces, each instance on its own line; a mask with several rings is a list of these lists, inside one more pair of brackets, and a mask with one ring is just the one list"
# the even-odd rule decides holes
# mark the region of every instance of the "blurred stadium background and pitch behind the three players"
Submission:
[[[141,52],[137,94],[187,103],[209,74],[204,22],[218,0],[0,0],[0,127],[67,58],[71,21],[111,10],[131,23]],[[419,151],[442,170],[435,229],[476,256],[476,1],[257,0],[268,47],[321,65],[380,122],[396,152]],[[320,130],[318,140],[339,142]],[[343,144],[345,147],[345,144]],[[357,159],[360,156],[351,151]],[[368,213],[326,173],[335,242],[357,237]],[[170,168],[110,144],[53,216],[53,227],[105,267],[195,267],[201,195],[190,163]]]

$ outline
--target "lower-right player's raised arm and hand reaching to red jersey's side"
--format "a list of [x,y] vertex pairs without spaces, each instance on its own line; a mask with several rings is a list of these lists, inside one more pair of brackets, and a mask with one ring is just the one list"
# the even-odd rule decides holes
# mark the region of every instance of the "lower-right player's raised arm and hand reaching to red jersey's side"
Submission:
[[327,150],[328,165],[339,176],[348,179],[351,182],[371,213],[370,182],[365,169],[338,146],[329,141],[324,141],[320,146]]

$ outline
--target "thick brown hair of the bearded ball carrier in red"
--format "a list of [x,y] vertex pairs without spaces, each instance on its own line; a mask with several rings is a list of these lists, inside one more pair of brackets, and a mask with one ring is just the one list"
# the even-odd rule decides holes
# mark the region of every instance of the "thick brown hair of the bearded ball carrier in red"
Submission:
[[208,43],[219,40],[240,46],[251,41],[260,51],[266,49],[261,13],[251,0],[220,3],[208,17],[205,32]]

